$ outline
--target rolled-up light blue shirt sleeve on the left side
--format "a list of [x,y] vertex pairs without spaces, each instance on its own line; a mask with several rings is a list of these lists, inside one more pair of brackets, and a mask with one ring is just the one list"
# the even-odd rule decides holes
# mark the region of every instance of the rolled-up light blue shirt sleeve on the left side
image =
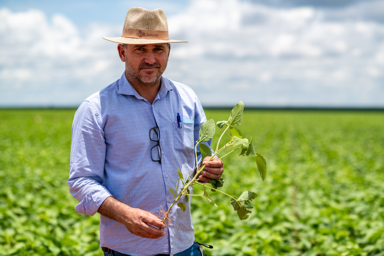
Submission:
[[84,101],[75,113],[72,125],[70,192],[79,204],[80,214],[94,215],[111,196],[104,184],[105,140],[103,121],[97,109]]

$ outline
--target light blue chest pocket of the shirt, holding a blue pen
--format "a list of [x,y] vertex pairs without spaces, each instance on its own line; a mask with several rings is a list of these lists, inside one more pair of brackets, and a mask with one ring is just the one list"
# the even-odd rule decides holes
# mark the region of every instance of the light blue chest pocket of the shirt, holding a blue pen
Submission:
[[194,122],[182,122],[180,127],[177,122],[173,123],[175,150],[185,154],[193,153],[194,142]]

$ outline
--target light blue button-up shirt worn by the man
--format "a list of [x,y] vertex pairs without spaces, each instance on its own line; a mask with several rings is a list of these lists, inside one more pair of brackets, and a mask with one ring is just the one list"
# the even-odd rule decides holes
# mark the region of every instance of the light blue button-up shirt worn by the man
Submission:
[[[178,127],[177,113],[187,120]],[[156,120],[156,121],[155,121]],[[113,196],[131,207],[156,213],[174,201],[177,170],[192,177],[196,167],[194,146],[206,117],[196,94],[184,84],[161,78],[153,104],[121,78],[93,94],[79,106],[72,126],[71,194],[79,201],[75,210],[94,215]],[[151,159],[149,133],[160,129],[161,164]],[[210,145],[210,142],[208,143]],[[201,161],[198,152],[198,161]],[[179,182],[180,189],[181,182]],[[192,190],[190,191],[193,192]],[[145,239],[110,218],[100,216],[100,245],[133,256],[170,253],[189,248],[195,238],[190,200],[186,210],[174,206],[166,234]]]

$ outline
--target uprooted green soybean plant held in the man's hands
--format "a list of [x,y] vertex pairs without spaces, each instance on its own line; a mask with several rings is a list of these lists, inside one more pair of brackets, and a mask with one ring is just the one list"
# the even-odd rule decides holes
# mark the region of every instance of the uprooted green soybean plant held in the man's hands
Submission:
[[[195,146],[195,157],[196,157],[196,163],[198,162],[198,156],[197,156],[197,147],[199,146],[200,152],[201,152],[201,159],[203,160],[206,156],[210,156],[209,160],[212,159],[222,159],[229,154],[235,152],[235,151],[240,151],[239,156],[249,156],[249,157],[254,157],[257,168],[259,170],[259,174],[264,181],[266,176],[267,176],[267,164],[265,161],[265,158],[254,151],[253,143],[252,143],[252,137],[250,140],[243,138],[241,130],[239,129],[239,125],[241,124],[242,118],[243,118],[243,111],[244,111],[244,103],[240,101],[238,104],[236,104],[232,111],[231,114],[228,118],[227,121],[219,121],[217,122],[217,126],[220,129],[224,129],[222,132],[216,146],[216,151],[212,154],[210,148],[204,144],[204,142],[209,141],[212,137],[214,137],[215,132],[216,132],[216,125],[214,119],[209,119],[206,122],[204,122],[201,125],[201,129],[199,132],[199,140],[196,143]],[[219,148],[220,141],[223,138],[223,135],[225,132],[229,131],[230,133],[230,138],[231,140],[227,142],[223,147]],[[225,155],[219,157],[219,154],[224,151],[226,148],[233,148],[231,151],[226,153]],[[215,160],[214,159],[214,160]],[[197,168],[197,172],[194,175],[194,177],[189,181],[188,179],[184,180],[183,174],[180,172],[180,169],[178,169],[178,174],[179,174],[179,179],[178,183],[181,182],[182,186],[180,191],[175,191],[172,188],[169,188],[169,190],[172,192],[174,196],[174,202],[169,206],[168,210],[165,212],[164,217],[163,217],[163,223],[165,223],[168,220],[168,215],[170,209],[177,204],[178,207],[180,207],[183,211],[185,211],[186,206],[182,202],[178,202],[178,200],[182,197],[185,196],[186,200],[188,202],[189,196],[204,196],[209,202],[214,204],[216,207],[216,203],[212,201],[212,199],[209,197],[207,193],[207,188],[210,189],[211,191],[218,191],[228,197],[230,197],[230,203],[233,207],[233,210],[237,211],[237,214],[240,218],[240,220],[246,220],[249,217],[249,214],[251,213],[251,206],[249,206],[249,203],[252,199],[255,199],[258,197],[258,194],[251,192],[251,191],[244,191],[239,198],[230,196],[223,191],[219,190],[218,187],[222,187],[224,184],[224,179],[220,178],[218,180],[212,180],[209,179],[210,185],[208,186],[207,184],[199,182],[199,176],[201,172],[203,171],[205,165],[202,165],[201,167]],[[193,195],[190,194],[189,192],[189,187],[194,186],[195,184],[201,185],[204,187],[204,194],[203,195]],[[178,187],[178,184],[176,184],[176,188]]]

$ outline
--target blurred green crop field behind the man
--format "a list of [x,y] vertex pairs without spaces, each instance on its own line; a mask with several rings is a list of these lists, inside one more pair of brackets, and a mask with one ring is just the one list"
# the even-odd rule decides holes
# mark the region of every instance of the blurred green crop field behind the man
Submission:
[[[74,112],[0,110],[0,255],[102,255],[99,216],[77,214],[67,185]],[[219,193],[219,208],[193,199],[206,255],[384,255],[384,112],[245,110],[240,128],[268,175],[224,159],[222,190],[259,197],[245,221]]]

